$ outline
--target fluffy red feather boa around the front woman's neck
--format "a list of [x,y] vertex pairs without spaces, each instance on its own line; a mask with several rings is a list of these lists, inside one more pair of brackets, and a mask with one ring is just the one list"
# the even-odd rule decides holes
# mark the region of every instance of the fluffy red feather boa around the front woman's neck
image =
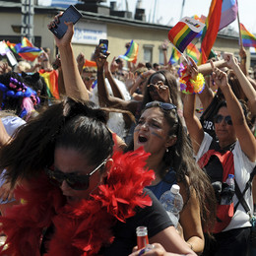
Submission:
[[91,200],[76,206],[65,205],[58,187],[44,174],[18,187],[16,198],[24,204],[9,209],[0,218],[1,231],[7,235],[0,255],[40,255],[40,237],[44,227],[54,224],[46,255],[96,255],[102,245],[114,240],[111,228],[117,220],[125,222],[135,215],[135,207],[152,204],[143,188],[155,178],[145,169],[149,154],[142,149],[127,154],[115,153],[106,184],[98,187]]

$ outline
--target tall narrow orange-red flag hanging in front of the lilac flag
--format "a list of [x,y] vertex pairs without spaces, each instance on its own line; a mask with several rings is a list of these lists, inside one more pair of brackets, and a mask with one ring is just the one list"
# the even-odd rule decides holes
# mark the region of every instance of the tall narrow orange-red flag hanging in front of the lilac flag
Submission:
[[219,32],[222,16],[223,0],[212,0],[209,14],[206,19],[206,27],[203,32],[203,41],[201,44],[201,56],[198,65],[206,63],[212,47]]

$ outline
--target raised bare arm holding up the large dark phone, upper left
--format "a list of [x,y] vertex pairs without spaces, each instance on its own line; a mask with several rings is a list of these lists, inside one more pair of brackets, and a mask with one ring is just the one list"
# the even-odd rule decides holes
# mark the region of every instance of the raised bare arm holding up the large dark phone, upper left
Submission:
[[[56,19],[58,20],[58,17]],[[55,22],[51,22],[48,28],[54,26]],[[67,96],[77,99],[89,100],[89,94],[79,73],[77,61],[75,59],[71,39],[74,34],[74,26],[72,23],[65,23],[68,26],[67,32],[62,38],[54,35],[56,45],[58,46],[61,58],[61,68],[63,72],[63,80],[65,84]]]

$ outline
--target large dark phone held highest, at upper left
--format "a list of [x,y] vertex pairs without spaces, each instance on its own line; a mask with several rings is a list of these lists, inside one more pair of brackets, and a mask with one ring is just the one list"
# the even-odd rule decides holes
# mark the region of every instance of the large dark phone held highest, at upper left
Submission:
[[64,24],[64,22],[72,22],[73,24],[76,24],[81,17],[82,14],[78,11],[78,9],[75,6],[70,5],[62,16],[59,17],[59,23],[56,24],[54,28],[49,30],[60,39],[68,30],[68,27]]

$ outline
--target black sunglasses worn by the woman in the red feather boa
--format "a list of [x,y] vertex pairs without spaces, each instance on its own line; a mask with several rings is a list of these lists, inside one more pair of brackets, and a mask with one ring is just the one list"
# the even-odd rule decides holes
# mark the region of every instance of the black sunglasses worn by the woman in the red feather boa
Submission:
[[60,186],[65,180],[67,184],[74,190],[86,190],[90,184],[90,177],[98,170],[102,165],[106,163],[106,160],[103,160],[96,168],[86,175],[78,175],[75,173],[64,173],[60,170],[52,170],[48,167],[45,167],[44,170],[46,175],[51,179],[52,183]]

